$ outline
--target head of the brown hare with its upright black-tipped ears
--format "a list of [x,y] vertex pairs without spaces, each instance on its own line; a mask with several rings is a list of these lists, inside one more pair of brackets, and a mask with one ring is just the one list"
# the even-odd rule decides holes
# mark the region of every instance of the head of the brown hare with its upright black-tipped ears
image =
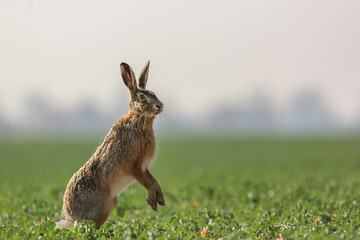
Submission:
[[121,75],[130,93],[130,111],[148,117],[155,117],[163,110],[163,103],[156,97],[155,93],[146,90],[146,83],[149,74],[148,61],[140,73],[139,84],[137,85],[135,74],[126,63],[120,64]]

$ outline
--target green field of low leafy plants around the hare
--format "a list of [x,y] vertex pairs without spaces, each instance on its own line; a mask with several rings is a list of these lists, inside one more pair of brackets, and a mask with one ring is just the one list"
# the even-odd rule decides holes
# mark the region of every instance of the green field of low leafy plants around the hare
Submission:
[[62,194],[98,141],[0,142],[0,239],[360,239],[360,140],[159,142],[150,171],[166,206],[134,183],[99,231],[54,230]]

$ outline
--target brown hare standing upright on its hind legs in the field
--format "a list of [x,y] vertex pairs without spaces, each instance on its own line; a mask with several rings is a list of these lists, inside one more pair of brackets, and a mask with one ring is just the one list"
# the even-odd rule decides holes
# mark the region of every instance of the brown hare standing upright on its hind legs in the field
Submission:
[[134,180],[146,188],[146,200],[154,211],[157,204],[165,206],[160,185],[148,170],[155,155],[153,121],[164,106],[145,89],[149,64],[142,70],[138,85],[131,67],[120,64],[130,93],[129,112],[113,125],[103,143],[70,179],[64,194],[65,219],[56,221],[57,228],[91,220],[99,229],[116,207],[118,193]]

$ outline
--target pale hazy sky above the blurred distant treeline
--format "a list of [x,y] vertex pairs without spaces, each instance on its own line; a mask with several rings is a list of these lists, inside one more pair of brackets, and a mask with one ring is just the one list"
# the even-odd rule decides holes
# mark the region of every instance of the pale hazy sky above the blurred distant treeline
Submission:
[[360,2],[1,1],[0,113],[31,95],[54,109],[115,111],[124,61],[172,114],[196,117],[261,92],[286,108],[315,89],[344,121],[360,112]]

